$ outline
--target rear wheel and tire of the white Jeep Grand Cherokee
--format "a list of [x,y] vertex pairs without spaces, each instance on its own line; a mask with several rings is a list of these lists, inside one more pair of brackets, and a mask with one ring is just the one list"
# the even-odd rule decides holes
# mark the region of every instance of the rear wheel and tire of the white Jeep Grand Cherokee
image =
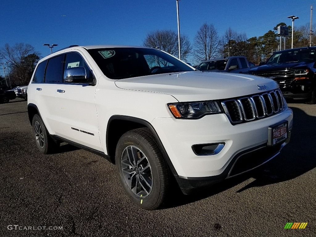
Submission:
[[33,117],[32,127],[33,136],[40,152],[43,154],[52,154],[56,152],[56,149],[59,147],[59,143],[54,142],[49,136],[49,133],[38,114],[35,114]]

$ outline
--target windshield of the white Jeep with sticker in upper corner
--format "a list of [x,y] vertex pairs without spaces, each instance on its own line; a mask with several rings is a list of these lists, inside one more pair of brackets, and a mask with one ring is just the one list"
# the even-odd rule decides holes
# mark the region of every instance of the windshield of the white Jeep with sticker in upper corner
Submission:
[[187,64],[158,49],[101,48],[89,49],[88,52],[104,75],[111,79],[194,71]]

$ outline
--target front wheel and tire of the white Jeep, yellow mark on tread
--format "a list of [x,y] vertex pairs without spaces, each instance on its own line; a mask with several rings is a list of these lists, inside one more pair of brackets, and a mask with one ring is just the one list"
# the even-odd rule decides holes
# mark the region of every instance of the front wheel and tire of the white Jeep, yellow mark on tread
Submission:
[[128,131],[119,139],[115,162],[124,191],[133,203],[145,210],[165,204],[170,171],[148,128]]

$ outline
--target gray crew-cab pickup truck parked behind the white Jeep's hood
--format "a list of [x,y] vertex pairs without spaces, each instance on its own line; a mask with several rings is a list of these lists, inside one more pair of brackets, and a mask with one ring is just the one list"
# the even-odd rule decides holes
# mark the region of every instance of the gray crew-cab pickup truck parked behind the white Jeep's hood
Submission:
[[199,71],[248,73],[255,64],[248,62],[246,57],[233,56],[224,58],[214,58],[200,63],[196,69]]

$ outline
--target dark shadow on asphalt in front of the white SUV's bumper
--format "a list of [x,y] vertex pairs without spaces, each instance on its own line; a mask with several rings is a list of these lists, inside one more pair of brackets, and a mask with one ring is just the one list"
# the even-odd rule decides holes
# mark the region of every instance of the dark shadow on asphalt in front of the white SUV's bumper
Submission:
[[282,149],[278,156],[253,171],[225,179],[221,183],[217,183],[207,190],[199,191],[194,195],[183,195],[178,188],[173,195],[179,195],[179,198],[169,201],[165,208],[185,205],[216,195],[249,178],[254,178],[255,180],[237,192],[256,186],[260,187],[295,179],[315,168],[315,139],[313,137],[316,134],[316,117],[310,116],[295,107],[291,107],[291,109],[294,113],[291,141]]

